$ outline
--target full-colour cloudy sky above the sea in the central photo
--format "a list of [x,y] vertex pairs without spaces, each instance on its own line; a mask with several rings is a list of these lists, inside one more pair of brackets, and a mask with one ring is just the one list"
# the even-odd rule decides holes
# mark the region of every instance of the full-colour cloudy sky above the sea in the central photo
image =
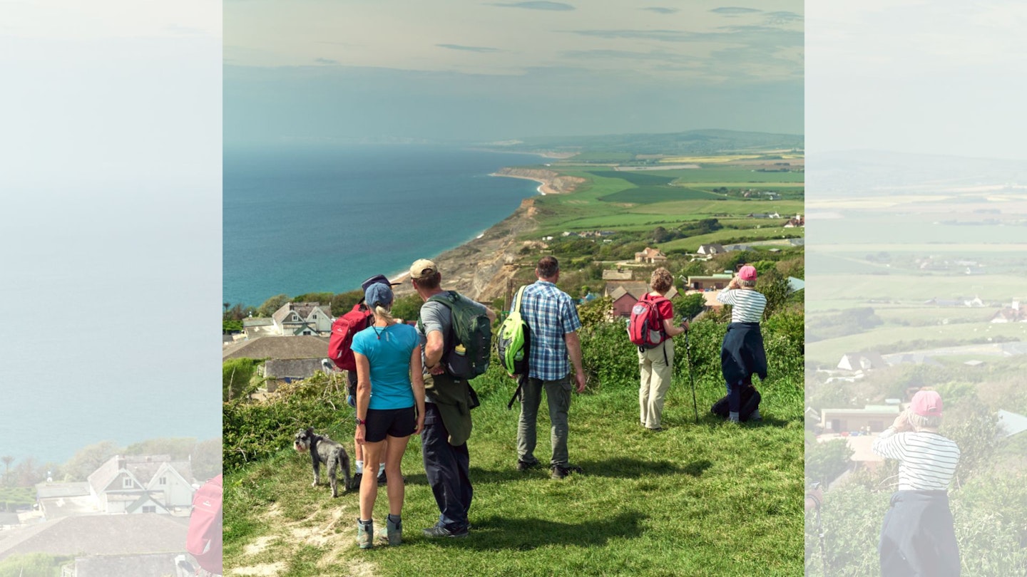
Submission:
[[803,131],[803,3],[226,0],[225,143]]

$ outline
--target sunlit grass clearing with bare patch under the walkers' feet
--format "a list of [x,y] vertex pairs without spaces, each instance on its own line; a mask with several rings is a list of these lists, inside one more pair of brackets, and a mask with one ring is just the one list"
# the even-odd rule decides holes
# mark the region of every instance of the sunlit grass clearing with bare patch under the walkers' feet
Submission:
[[[418,437],[404,458],[402,547],[354,545],[354,493],[310,487],[309,460],[283,448],[225,482],[225,567],[280,563],[281,574],[345,575],[797,575],[802,567],[802,402],[799,383],[761,387],[764,421],[733,427],[707,416],[722,385],[677,375],[662,433],[638,424],[638,384],[607,382],[575,395],[570,454],[584,473],[557,482],[516,461],[512,387],[485,391],[468,441],[471,535],[428,540],[438,518]],[[544,402],[544,401],[543,401]],[[331,435],[351,447],[351,411]],[[537,456],[549,451],[544,408]],[[375,508],[376,527],[386,507]],[[248,547],[250,549],[248,550]]]

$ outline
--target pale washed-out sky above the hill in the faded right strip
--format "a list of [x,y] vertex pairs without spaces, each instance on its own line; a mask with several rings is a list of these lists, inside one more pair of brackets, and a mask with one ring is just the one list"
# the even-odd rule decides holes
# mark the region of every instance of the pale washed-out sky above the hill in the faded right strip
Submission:
[[809,2],[806,152],[1027,159],[1027,4]]

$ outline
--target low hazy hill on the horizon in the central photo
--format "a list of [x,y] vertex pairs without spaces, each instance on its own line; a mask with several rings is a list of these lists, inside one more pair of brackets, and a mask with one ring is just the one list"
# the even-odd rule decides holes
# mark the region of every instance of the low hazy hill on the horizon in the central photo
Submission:
[[492,150],[508,152],[603,152],[627,154],[697,155],[772,149],[802,149],[802,134],[773,134],[736,130],[605,134],[591,137],[536,137],[521,141],[485,143]]

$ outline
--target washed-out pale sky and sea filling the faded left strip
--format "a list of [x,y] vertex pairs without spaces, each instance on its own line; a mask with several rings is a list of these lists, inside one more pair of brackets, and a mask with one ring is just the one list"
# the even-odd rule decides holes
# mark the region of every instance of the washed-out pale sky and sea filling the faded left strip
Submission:
[[221,434],[221,7],[0,1],[0,455]]

